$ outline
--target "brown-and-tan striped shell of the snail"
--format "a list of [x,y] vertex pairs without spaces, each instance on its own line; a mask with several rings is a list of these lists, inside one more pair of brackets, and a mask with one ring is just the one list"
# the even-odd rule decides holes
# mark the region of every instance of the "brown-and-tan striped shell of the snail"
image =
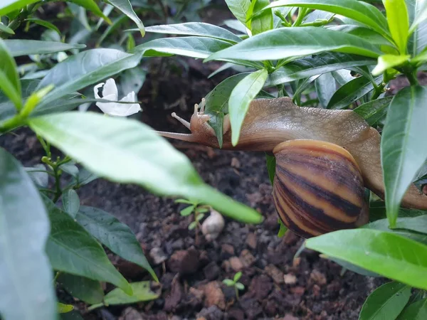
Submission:
[[275,208],[294,233],[310,238],[367,223],[362,173],[346,149],[300,139],[278,144],[273,154]]

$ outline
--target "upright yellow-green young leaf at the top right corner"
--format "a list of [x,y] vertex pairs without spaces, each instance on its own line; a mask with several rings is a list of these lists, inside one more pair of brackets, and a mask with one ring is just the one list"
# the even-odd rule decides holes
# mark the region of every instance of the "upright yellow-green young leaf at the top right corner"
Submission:
[[399,48],[399,53],[404,55],[409,31],[409,17],[405,0],[384,0],[383,4],[386,8],[391,37]]

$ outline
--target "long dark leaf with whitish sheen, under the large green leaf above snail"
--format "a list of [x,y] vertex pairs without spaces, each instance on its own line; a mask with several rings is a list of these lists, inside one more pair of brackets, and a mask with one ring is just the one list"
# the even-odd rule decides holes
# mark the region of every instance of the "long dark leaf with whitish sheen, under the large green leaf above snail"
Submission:
[[285,82],[310,78],[334,70],[352,68],[361,65],[375,65],[376,60],[362,55],[349,55],[347,53],[320,53],[310,57],[298,59],[287,63],[282,68],[268,75],[265,87],[273,87]]

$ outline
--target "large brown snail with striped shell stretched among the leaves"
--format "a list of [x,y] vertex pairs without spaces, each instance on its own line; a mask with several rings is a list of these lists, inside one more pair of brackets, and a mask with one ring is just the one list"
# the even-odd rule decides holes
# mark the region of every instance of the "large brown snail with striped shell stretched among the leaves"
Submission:
[[[191,134],[163,137],[219,148],[204,100],[190,122],[172,114]],[[380,134],[352,110],[298,107],[289,97],[253,100],[236,146],[228,115],[223,121],[226,150],[273,152],[273,200],[283,223],[303,238],[357,228],[369,221],[364,188],[384,199]],[[401,206],[427,210],[427,196],[411,185]]]

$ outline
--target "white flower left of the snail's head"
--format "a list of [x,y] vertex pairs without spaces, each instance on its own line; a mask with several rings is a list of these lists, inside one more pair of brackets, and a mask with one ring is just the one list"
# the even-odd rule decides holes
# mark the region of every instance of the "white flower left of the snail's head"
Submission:
[[[93,88],[95,98],[101,99],[98,95],[98,89],[102,86],[104,86],[102,88],[102,99],[111,101],[118,100],[119,93],[117,91],[117,85],[115,84],[115,80],[111,78],[108,79],[105,83],[102,82],[99,85],[95,85]],[[120,102],[137,102],[135,92],[129,92],[129,94],[122,98]],[[138,103],[122,104],[118,102],[96,102],[96,105],[105,114],[116,117],[127,117],[131,114],[141,111],[141,106],[139,106]]]

